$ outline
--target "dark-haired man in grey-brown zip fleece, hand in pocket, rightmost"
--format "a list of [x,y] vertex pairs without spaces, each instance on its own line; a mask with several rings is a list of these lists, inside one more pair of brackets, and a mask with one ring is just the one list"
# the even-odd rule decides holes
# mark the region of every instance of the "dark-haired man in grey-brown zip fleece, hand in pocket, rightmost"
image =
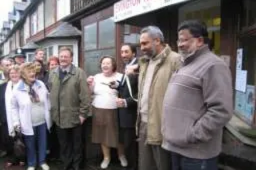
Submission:
[[172,152],[173,170],[217,170],[222,129],[233,111],[230,70],[210,52],[203,23],[184,21],[178,31],[184,62],[165,93],[162,147]]

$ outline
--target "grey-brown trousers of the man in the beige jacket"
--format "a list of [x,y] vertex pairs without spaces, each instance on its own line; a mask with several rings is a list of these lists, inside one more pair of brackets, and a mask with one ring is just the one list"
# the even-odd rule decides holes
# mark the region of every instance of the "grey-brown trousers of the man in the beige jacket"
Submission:
[[139,130],[139,170],[171,170],[171,153],[161,145],[146,144],[146,123],[141,122]]

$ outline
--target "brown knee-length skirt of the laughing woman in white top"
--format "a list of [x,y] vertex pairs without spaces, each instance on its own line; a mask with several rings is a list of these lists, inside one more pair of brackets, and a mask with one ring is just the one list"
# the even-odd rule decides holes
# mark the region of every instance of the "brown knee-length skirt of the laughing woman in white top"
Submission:
[[117,109],[99,109],[92,107],[92,112],[92,142],[104,144],[107,147],[117,148]]

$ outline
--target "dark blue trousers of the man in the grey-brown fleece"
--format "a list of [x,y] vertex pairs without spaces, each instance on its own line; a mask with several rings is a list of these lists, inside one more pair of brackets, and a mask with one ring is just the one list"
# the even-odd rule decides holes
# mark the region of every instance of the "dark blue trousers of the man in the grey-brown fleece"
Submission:
[[218,158],[193,159],[172,153],[172,170],[218,170]]

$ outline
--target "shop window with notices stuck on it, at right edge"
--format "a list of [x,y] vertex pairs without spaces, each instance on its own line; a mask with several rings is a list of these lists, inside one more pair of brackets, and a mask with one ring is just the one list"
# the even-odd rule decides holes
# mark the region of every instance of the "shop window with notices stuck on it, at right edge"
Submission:
[[237,48],[235,110],[253,128],[256,126],[256,2],[244,1],[243,11],[240,44]]

